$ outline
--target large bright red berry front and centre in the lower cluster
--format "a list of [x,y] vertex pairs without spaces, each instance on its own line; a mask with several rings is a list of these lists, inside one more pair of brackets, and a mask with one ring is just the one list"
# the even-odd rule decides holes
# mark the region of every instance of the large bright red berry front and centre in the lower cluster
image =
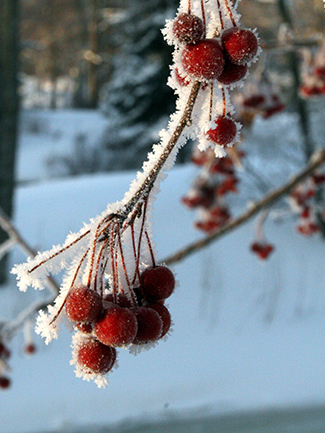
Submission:
[[108,346],[132,343],[137,330],[138,324],[134,313],[113,303],[109,304],[94,328],[98,340]]

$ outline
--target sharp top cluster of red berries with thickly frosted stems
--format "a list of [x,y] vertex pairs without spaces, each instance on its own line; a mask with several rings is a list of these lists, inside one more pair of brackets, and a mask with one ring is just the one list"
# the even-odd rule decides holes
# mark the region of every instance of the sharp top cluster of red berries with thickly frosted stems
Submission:
[[[225,156],[224,146],[238,140],[240,125],[234,120],[229,89],[242,82],[259,52],[255,32],[238,26],[238,15],[227,0],[214,1],[216,15],[206,14],[204,2],[181,3],[176,18],[168,22],[164,34],[175,45],[174,66],[169,81],[183,92],[200,82],[202,106],[196,111],[200,150],[211,147],[216,156]],[[214,20],[210,19],[214,18]],[[208,19],[210,18],[210,19]],[[219,25],[216,26],[215,19]],[[220,101],[222,101],[220,103]]]

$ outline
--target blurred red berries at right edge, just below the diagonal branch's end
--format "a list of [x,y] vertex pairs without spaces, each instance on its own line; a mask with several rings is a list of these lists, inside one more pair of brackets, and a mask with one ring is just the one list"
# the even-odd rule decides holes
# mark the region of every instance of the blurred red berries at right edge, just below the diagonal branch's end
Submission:
[[317,198],[321,195],[324,182],[325,174],[314,173],[290,194],[292,208],[299,215],[297,231],[304,236],[322,230],[325,215]]

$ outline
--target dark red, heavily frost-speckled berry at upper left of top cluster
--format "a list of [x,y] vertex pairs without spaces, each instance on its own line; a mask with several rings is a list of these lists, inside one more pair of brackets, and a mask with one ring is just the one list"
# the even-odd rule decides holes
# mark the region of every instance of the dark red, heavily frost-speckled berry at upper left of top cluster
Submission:
[[181,13],[173,23],[173,34],[179,42],[195,44],[204,34],[204,24],[196,15]]

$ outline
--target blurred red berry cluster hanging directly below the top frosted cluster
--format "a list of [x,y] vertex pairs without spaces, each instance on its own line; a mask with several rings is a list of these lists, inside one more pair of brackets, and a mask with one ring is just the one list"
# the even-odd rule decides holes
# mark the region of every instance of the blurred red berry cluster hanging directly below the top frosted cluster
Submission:
[[235,148],[224,158],[216,158],[211,149],[201,152],[194,148],[192,162],[202,167],[202,172],[182,198],[187,207],[199,210],[195,227],[206,233],[224,226],[231,218],[226,196],[237,192],[236,163],[243,153]]

